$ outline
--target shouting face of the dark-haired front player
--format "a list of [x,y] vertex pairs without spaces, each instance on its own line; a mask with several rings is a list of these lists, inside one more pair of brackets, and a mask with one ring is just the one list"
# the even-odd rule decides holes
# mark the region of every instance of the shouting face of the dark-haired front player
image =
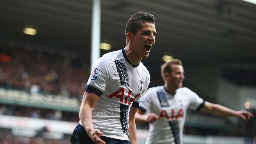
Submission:
[[151,22],[141,24],[133,39],[133,47],[135,48],[135,55],[139,58],[147,58],[153,45],[155,44],[156,27]]

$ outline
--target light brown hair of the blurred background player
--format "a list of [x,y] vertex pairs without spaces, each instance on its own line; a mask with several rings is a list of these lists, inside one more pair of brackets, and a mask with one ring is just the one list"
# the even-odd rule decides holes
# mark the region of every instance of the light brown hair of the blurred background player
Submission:
[[161,75],[162,75],[162,78],[164,81],[166,81],[165,77],[164,77],[164,74],[167,72],[167,73],[171,73],[172,72],[172,65],[182,65],[182,62],[181,60],[179,59],[173,59],[169,62],[166,62],[164,64],[162,64],[161,66]]

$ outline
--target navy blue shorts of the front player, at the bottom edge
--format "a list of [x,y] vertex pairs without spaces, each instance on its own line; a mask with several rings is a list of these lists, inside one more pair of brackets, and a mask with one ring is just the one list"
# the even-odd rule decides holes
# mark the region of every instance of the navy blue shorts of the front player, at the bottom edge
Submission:
[[[109,138],[105,136],[100,137],[106,144],[130,144],[130,141],[119,140],[114,138]],[[88,136],[84,127],[79,123],[76,125],[76,128],[70,139],[71,144],[94,144],[92,139]]]

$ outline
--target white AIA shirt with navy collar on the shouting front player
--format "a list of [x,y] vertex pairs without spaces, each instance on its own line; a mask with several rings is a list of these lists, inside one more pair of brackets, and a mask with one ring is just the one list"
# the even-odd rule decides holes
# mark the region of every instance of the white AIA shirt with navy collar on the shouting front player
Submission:
[[92,110],[94,128],[103,132],[103,136],[129,140],[130,107],[139,106],[149,82],[146,67],[141,62],[131,65],[124,49],[99,58],[85,88],[100,96]]

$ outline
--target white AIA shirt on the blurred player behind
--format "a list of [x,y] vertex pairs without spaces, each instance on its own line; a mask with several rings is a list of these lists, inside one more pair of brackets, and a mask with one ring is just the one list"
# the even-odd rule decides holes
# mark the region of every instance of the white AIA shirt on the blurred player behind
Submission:
[[185,87],[177,89],[174,95],[167,92],[164,86],[149,88],[139,109],[161,118],[149,124],[146,144],[182,144],[187,109],[196,110],[203,105],[203,99]]

